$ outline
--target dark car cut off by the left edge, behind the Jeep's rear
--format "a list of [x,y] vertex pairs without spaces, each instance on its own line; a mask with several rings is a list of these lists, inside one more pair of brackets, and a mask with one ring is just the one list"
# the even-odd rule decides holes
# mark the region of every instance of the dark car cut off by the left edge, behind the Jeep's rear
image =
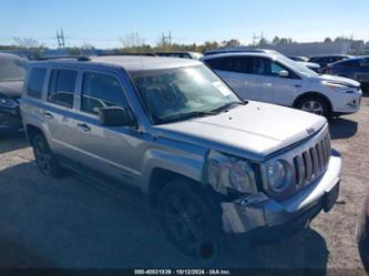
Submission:
[[0,134],[22,130],[19,99],[23,90],[25,62],[18,55],[0,53]]

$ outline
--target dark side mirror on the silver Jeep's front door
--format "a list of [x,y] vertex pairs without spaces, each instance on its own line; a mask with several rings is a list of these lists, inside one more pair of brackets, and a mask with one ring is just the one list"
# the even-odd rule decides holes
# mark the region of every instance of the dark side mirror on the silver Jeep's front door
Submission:
[[101,125],[106,126],[135,126],[136,122],[130,109],[109,106],[99,109]]

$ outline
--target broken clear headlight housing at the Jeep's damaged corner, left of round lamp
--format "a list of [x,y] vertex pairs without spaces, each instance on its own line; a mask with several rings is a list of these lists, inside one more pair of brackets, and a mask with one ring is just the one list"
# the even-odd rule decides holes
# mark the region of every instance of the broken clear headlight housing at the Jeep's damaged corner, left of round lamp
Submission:
[[255,173],[250,163],[216,151],[211,151],[207,156],[205,182],[223,194],[227,194],[227,188],[242,193],[257,193]]

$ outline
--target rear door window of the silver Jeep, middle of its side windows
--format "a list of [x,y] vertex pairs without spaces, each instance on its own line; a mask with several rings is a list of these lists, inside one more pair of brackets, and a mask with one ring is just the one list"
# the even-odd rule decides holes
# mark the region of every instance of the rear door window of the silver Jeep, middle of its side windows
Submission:
[[75,81],[76,71],[74,70],[52,70],[48,101],[66,108],[72,108]]

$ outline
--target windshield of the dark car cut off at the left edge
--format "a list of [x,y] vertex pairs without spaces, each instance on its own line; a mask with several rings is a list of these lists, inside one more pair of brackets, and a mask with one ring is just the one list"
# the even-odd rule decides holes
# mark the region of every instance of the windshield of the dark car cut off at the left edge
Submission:
[[12,55],[0,55],[0,81],[23,81],[25,70],[17,63],[22,59]]

